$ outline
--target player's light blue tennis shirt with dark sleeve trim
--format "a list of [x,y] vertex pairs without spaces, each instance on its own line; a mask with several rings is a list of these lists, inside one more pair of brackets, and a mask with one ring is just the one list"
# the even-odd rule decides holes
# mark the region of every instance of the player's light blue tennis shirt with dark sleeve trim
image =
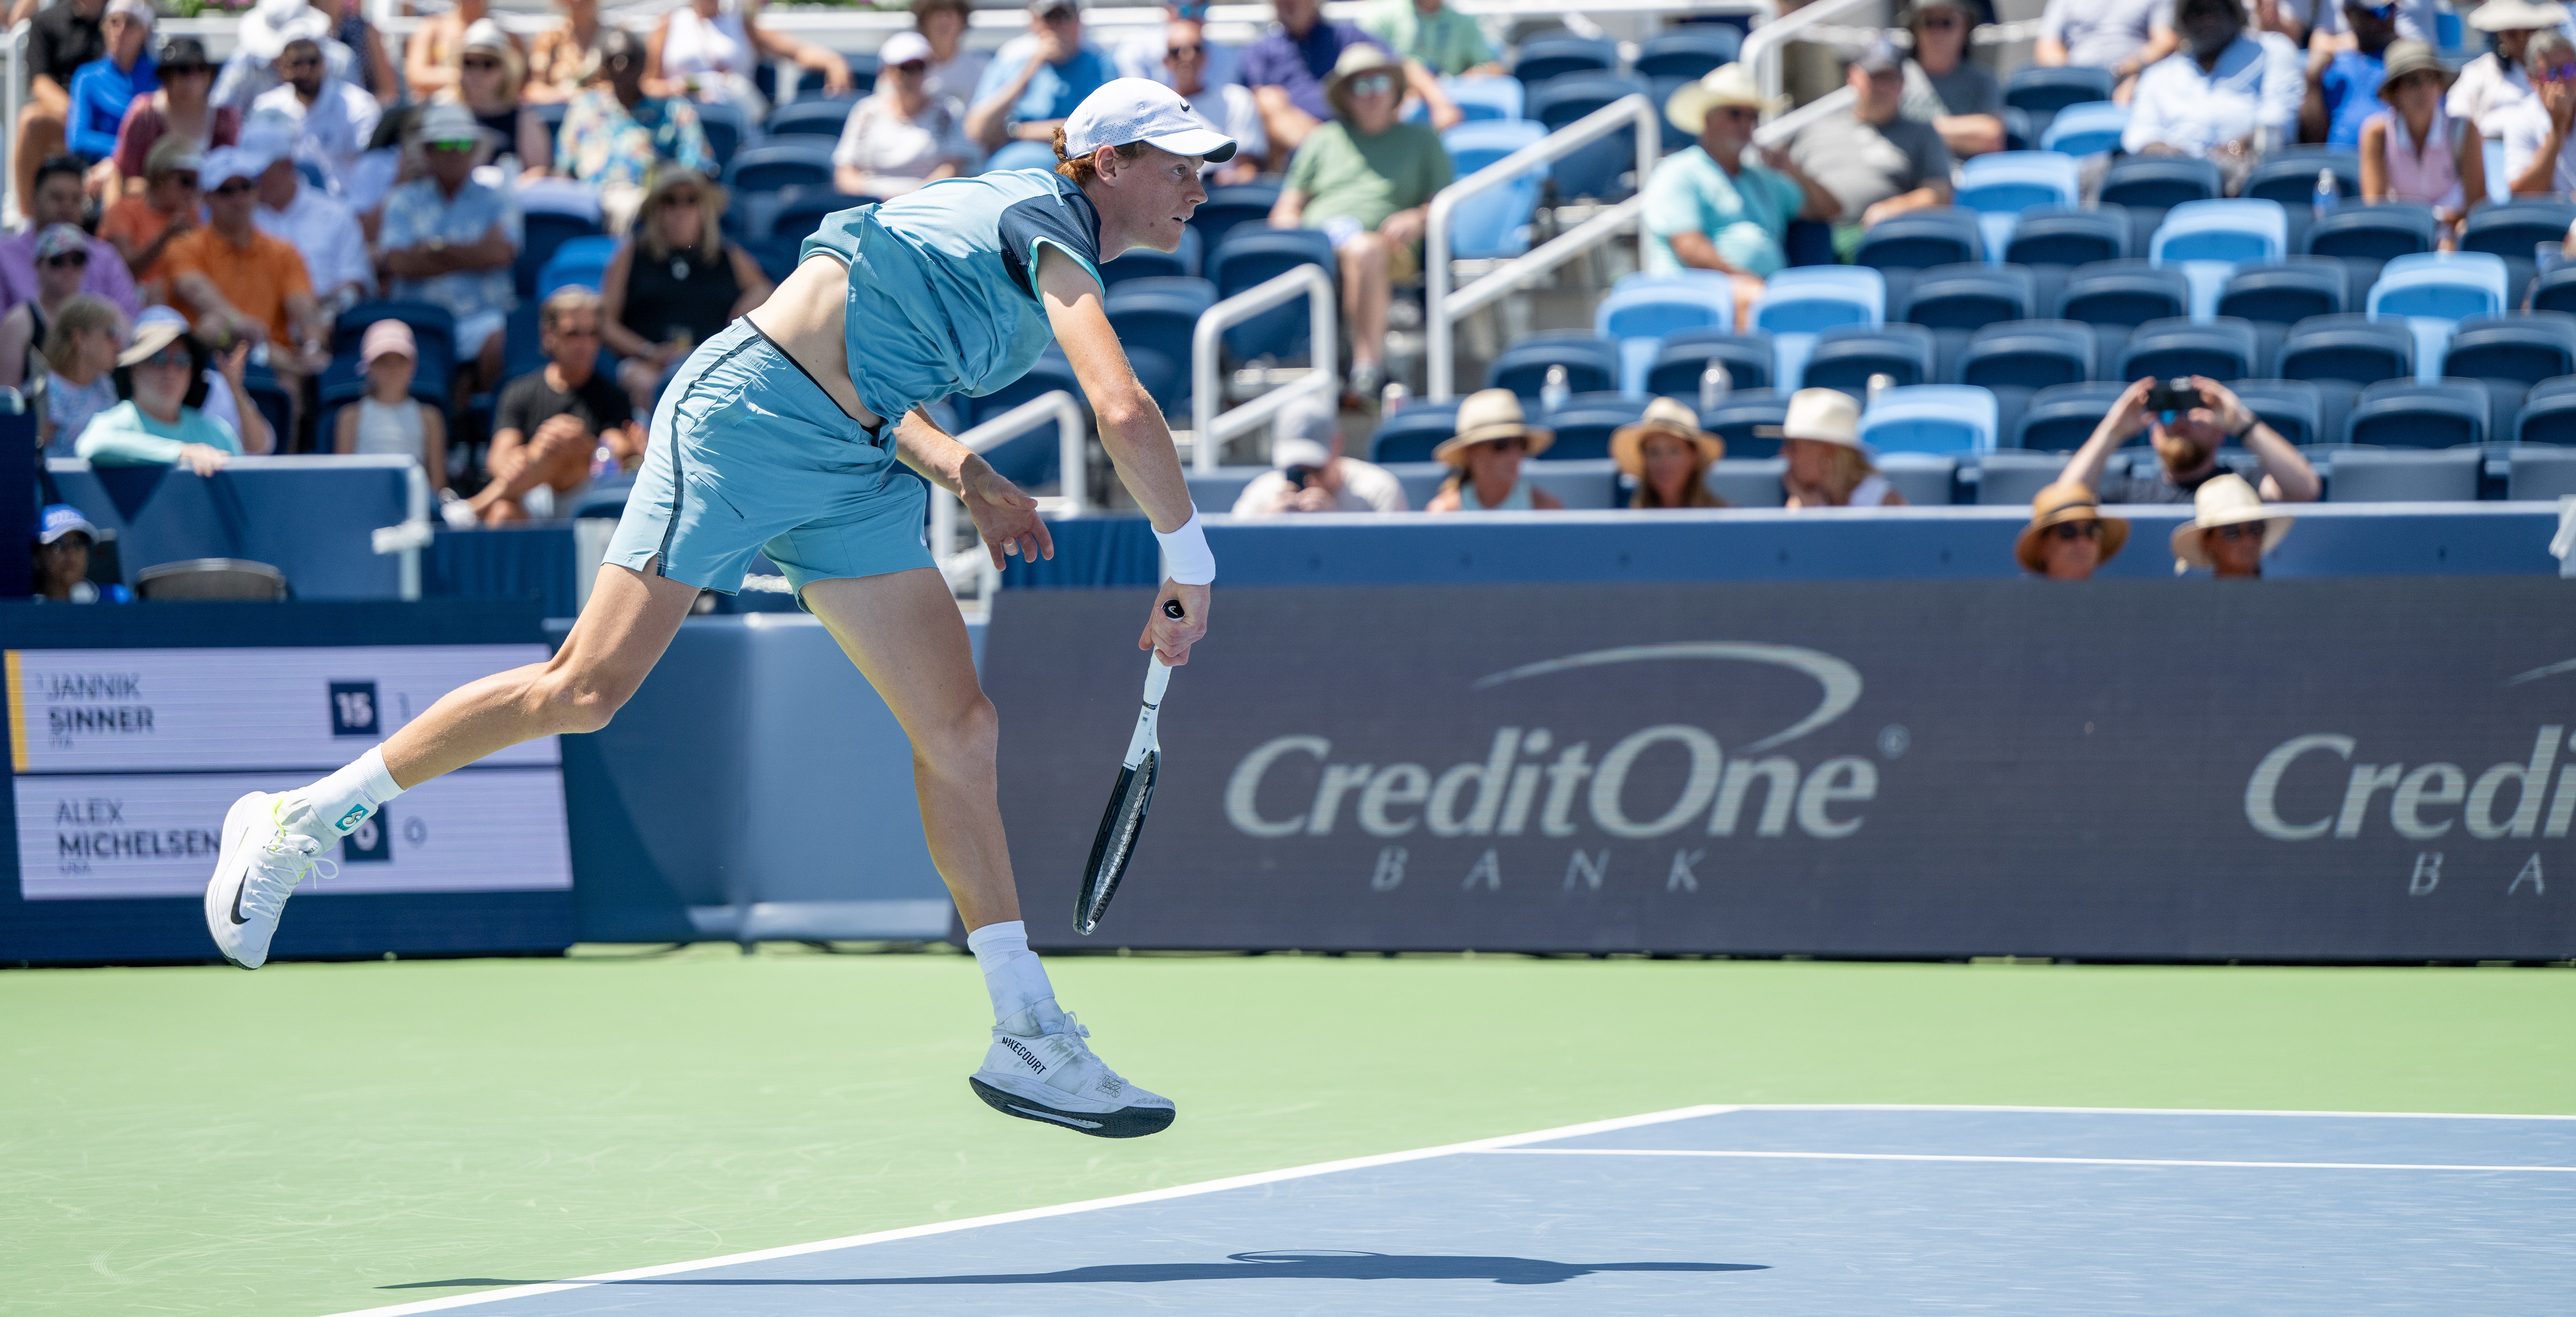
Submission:
[[989,394],[1038,363],[1056,338],[1038,302],[1041,245],[1100,278],[1092,198],[1054,170],[999,170],[835,211],[796,260],[827,253],[850,265],[850,384],[896,420],[948,394]]

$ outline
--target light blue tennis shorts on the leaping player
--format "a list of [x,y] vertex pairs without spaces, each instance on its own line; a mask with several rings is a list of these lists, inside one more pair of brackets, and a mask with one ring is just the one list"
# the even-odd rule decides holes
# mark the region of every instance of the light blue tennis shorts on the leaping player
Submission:
[[930,567],[927,485],[750,320],[688,356],[652,412],[644,469],[608,559],[721,590],[757,554],[806,582]]

